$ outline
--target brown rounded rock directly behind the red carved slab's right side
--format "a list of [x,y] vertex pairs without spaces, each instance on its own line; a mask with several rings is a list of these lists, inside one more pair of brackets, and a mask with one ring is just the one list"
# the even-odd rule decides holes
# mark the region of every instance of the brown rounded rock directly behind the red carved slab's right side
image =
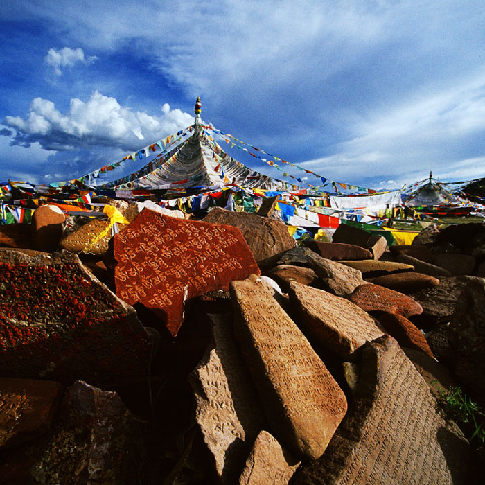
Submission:
[[203,221],[238,227],[260,266],[272,266],[279,254],[295,245],[283,222],[261,218],[249,212],[232,212],[214,207]]

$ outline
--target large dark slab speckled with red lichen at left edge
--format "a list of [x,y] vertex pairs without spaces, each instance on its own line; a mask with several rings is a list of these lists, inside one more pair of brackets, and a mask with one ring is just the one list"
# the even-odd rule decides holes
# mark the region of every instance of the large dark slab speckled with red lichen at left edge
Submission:
[[0,374],[82,378],[145,375],[151,342],[136,312],[67,251],[0,252]]

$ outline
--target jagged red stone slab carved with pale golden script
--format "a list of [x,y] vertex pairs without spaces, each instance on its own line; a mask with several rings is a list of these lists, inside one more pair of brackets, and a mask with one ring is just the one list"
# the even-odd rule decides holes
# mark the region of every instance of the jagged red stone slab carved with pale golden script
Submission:
[[175,337],[184,303],[233,280],[258,273],[256,261],[236,227],[183,220],[144,209],[115,234],[114,281],[118,297],[142,303]]

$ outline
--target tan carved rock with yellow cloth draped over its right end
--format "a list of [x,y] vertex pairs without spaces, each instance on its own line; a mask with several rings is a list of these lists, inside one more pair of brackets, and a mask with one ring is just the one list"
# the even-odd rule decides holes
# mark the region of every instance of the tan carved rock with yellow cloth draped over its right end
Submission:
[[[124,224],[117,225],[118,229],[125,227]],[[69,236],[63,238],[59,243],[59,247],[71,253],[104,256],[108,250],[109,240],[112,238],[112,231],[108,229],[108,220],[91,220],[73,233],[70,233]]]

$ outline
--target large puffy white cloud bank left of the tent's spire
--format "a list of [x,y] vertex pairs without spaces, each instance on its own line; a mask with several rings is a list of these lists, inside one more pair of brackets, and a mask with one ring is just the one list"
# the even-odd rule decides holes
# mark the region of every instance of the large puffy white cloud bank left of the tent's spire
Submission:
[[193,116],[165,103],[161,114],[132,112],[115,98],[94,91],[87,102],[71,99],[62,114],[54,103],[35,98],[26,118],[6,116],[3,124],[15,129],[13,144],[38,142],[44,150],[94,149],[96,146],[136,150],[193,123]]

